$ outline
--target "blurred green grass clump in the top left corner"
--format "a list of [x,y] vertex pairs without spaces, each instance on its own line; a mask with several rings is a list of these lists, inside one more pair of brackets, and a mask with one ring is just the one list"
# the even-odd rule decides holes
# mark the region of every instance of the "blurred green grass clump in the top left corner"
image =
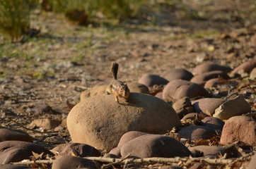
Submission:
[[33,0],[1,0],[0,30],[16,42],[30,27],[30,3]]

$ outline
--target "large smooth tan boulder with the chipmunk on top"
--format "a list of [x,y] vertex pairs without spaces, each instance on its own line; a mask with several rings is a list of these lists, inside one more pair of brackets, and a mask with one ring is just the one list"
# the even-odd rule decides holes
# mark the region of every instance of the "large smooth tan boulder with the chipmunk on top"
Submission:
[[67,118],[73,142],[107,151],[117,146],[125,132],[164,134],[179,126],[170,104],[140,93],[131,93],[129,103],[121,100],[120,104],[112,94],[93,96],[76,104]]

